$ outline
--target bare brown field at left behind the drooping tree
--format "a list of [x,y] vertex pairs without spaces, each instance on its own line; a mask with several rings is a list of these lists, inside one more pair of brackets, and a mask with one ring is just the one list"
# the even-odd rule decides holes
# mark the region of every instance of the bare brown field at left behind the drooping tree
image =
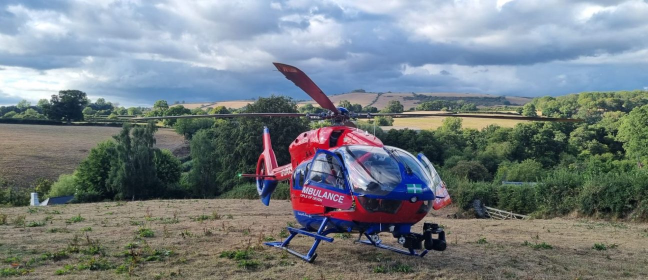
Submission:
[[[0,174],[17,185],[38,178],[56,180],[73,172],[97,143],[111,139],[121,128],[104,126],[47,126],[0,124]],[[170,129],[156,133],[159,148],[181,152],[183,136]]]

